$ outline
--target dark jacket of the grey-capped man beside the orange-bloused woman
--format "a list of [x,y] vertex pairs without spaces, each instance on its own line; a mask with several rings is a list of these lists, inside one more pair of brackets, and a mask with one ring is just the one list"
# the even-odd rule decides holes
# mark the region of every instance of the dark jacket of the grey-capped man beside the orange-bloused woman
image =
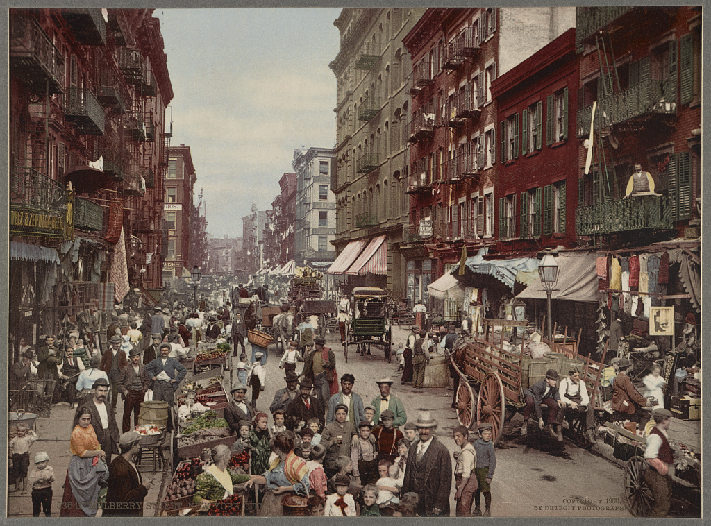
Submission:
[[102,516],[143,517],[143,500],[148,494],[141,474],[117,456],[109,466],[109,487]]

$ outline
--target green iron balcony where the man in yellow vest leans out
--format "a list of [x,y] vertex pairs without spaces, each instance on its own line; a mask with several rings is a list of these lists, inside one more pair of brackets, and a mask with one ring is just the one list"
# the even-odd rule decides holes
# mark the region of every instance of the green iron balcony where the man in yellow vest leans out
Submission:
[[575,210],[577,235],[606,235],[634,230],[668,230],[674,227],[665,195],[638,195]]

